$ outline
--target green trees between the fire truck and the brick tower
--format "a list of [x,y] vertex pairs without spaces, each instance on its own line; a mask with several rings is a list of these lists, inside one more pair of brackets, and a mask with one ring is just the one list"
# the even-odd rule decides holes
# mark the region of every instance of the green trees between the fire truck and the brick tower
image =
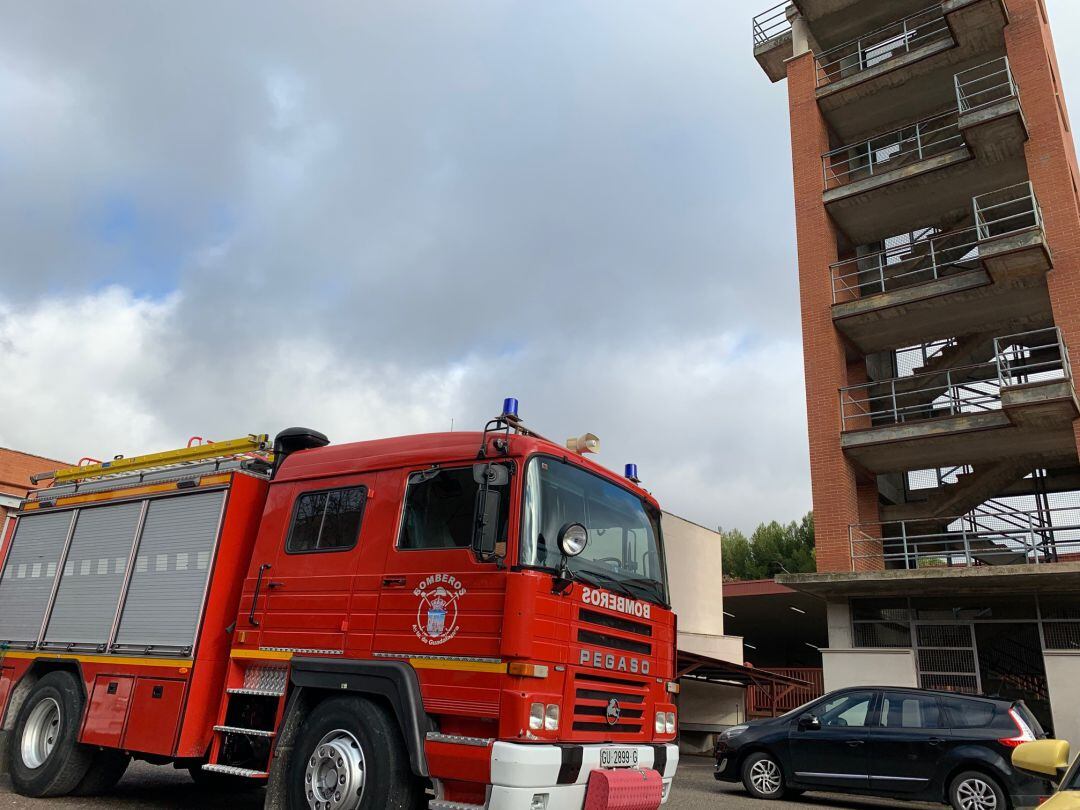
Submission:
[[771,579],[816,568],[812,512],[786,526],[762,523],[748,539],[738,529],[721,535],[724,576],[730,579]]

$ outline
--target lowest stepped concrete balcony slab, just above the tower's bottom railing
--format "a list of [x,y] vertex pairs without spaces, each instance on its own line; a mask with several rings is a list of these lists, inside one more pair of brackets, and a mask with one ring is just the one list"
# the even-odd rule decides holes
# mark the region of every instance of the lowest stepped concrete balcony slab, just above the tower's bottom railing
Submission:
[[1076,450],[1080,415],[1068,380],[1004,389],[1000,410],[890,424],[840,434],[856,464],[882,474],[953,464],[985,464],[1018,456],[1061,457]]

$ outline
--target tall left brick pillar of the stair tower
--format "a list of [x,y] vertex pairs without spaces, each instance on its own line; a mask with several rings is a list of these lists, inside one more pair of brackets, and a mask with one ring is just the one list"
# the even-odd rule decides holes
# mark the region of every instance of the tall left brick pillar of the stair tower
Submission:
[[873,480],[860,481],[840,449],[839,390],[849,384],[848,362],[833,326],[828,268],[838,258],[837,234],[822,200],[821,156],[829,143],[814,95],[812,54],[787,63],[787,94],[818,570],[849,571],[848,527],[877,519],[877,489]]

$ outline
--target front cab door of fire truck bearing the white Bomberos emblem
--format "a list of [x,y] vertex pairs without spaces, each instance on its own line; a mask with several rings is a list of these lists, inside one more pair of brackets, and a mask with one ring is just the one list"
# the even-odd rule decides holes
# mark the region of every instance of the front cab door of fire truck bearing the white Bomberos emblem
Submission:
[[[510,468],[499,492],[497,553],[509,537]],[[472,463],[403,470],[395,538],[387,553],[375,649],[440,659],[499,658],[505,577],[472,550],[481,484]],[[383,490],[388,487],[382,487]],[[476,662],[483,663],[483,662]]]

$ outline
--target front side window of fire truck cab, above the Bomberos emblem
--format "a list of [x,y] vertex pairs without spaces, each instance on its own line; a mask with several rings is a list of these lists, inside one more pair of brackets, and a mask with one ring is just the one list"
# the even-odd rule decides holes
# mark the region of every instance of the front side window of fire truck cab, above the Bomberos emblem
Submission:
[[[510,497],[509,487],[499,489],[503,490],[498,529],[502,542],[507,538]],[[409,475],[397,548],[406,551],[470,548],[478,491],[472,467]]]

